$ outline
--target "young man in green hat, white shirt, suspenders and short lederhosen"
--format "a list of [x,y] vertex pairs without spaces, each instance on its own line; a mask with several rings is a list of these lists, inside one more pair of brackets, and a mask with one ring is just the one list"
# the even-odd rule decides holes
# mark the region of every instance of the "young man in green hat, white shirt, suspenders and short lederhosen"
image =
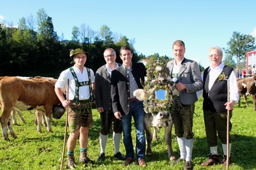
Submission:
[[[89,53],[77,48],[70,51],[70,57],[74,60],[74,66],[61,72],[55,85],[55,92],[68,111],[68,126],[70,135],[67,141],[68,168],[76,167],[74,149],[79,136],[80,157],[79,162],[93,163],[87,156],[88,131],[92,124],[92,101],[95,76],[92,69],[84,67]],[[68,99],[65,99],[61,89],[68,88]]]

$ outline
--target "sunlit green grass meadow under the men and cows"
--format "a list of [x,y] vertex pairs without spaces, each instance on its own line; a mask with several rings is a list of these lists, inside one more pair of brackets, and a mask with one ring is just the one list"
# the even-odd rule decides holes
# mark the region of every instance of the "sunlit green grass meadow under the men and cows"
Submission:
[[[237,104],[233,111],[232,117],[232,166],[229,169],[256,169],[256,132],[255,120],[256,111],[253,111],[252,97],[248,97],[250,108],[246,108],[243,98],[241,108]],[[59,120],[53,119],[52,131],[47,132],[46,127],[42,127],[42,133],[36,131],[34,122],[34,111],[23,112],[26,124],[23,124],[17,115],[19,125],[13,125],[13,129],[17,135],[17,139],[13,139],[8,133],[10,141],[4,141],[0,138],[0,169],[60,169],[61,155],[63,150],[63,139],[65,132],[65,115]],[[152,157],[145,157],[148,167],[140,167],[136,163],[130,166],[122,166],[123,160],[117,160],[113,157],[113,139],[109,134],[108,144],[106,147],[106,160],[97,162],[100,153],[99,131],[100,117],[97,110],[93,110],[93,129],[89,132],[88,156],[95,160],[95,164],[81,164],[79,159],[79,143],[75,150],[77,162],[76,169],[182,169],[184,164],[172,166],[168,160],[167,146],[164,142],[164,129],[158,134],[158,140],[152,141]],[[1,131],[1,130],[0,130]],[[135,143],[135,133],[134,135]],[[202,112],[202,97],[196,102],[196,110],[194,115],[193,132],[195,133],[195,141],[193,147],[193,169],[221,169],[222,165],[202,167],[201,163],[208,159],[209,146],[205,138],[204,118]],[[68,136],[68,135],[67,135]],[[177,159],[179,158],[179,146],[175,139],[174,131],[172,132],[173,152]],[[66,150],[67,151],[67,150]],[[221,143],[219,143],[218,151],[222,155]],[[125,154],[123,143],[120,145],[120,152]],[[67,168],[67,155],[63,169]]]

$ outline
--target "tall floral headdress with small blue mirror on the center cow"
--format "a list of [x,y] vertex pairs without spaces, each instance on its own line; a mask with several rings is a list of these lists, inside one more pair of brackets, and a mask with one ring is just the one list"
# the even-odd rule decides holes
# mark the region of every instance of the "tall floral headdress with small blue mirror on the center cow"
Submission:
[[[147,69],[147,80],[143,85],[145,92],[143,93],[140,89],[134,92],[134,96],[139,100],[143,100],[146,113],[158,113],[163,110],[172,113],[175,106],[173,86],[170,70],[166,67],[166,64],[157,60]],[[157,92],[163,94],[164,98],[159,99]]]

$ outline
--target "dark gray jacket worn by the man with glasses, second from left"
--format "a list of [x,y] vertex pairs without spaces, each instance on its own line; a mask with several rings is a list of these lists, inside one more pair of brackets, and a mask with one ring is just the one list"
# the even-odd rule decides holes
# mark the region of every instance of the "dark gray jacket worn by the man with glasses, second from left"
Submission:
[[[121,64],[118,63],[118,66]],[[99,67],[95,75],[95,101],[96,108],[103,108],[104,111],[112,111],[111,81],[106,64]]]

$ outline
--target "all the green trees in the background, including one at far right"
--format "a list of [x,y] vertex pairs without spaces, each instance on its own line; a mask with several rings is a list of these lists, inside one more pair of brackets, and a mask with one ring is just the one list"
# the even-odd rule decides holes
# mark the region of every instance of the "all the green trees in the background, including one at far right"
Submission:
[[[63,69],[72,66],[69,50],[75,48],[83,48],[91,54],[86,67],[93,71],[106,63],[103,57],[106,48],[113,48],[118,56],[119,49],[124,45],[131,46],[134,62],[140,59],[149,59],[150,62],[170,60],[170,57],[159,56],[158,53],[149,56],[138,54],[133,46],[135,39],[112,32],[107,25],[102,25],[99,31],[93,31],[89,25],[81,24],[80,27],[72,28],[72,39],[63,37],[63,34],[59,37],[54,31],[52,18],[44,9],[38,10],[36,18],[33,15],[20,18],[17,28],[0,23],[0,76],[40,75],[58,78]],[[234,32],[227,43],[228,48],[223,48],[226,57],[229,57],[226,64],[236,67],[232,57],[236,57],[239,64],[246,57],[246,52],[255,49],[254,41],[255,38],[250,35]],[[116,62],[122,63],[120,57],[117,57]],[[200,71],[204,71],[200,63],[199,66]]]

